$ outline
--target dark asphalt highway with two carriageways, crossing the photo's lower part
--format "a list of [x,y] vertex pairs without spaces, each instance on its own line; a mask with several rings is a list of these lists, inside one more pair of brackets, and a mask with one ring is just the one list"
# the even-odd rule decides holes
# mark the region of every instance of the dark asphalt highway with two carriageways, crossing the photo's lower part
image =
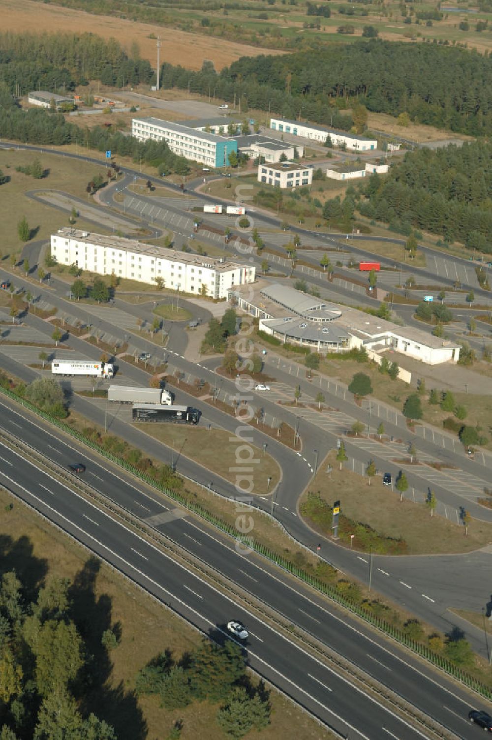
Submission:
[[[2,425],[7,431],[36,446],[62,467],[75,459],[84,462],[84,480],[132,511],[135,517],[159,519],[161,515],[164,521],[158,525],[159,531],[245,591],[255,593],[289,623],[346,656],[458,737],[468,740],[476,736],[476,728],[467,719],[469,708],[476,702],[445,676],[419,665],[397,646],[385,645],[379,635],[371,634],[350,615],[289,581],[281,571],[275,573],[263,559],[238,553],[232,541],[176,511],[175,505],[169,506],[124,471],[113,471],[109,463],[99,461],[73,440],[65,440],[58,431],[49,431],[31,414],[14,410],[5,400],[1,400],[1,409]],[[367,696],[351,679],[337,676],[289,637],[238,607],[189,569],[115,522],[71,486],[24,460],[20,451],[1,441],[0,448],[1,483],[210,636],[224,639],[225,622],[232,618],[243,621],[250,632],[246,648],[250,665],[322,721],[349,734],[351,740],[427,737],[425,731],[414,730],[407,721]],[[74,485],[76,488],[76,481]]]

